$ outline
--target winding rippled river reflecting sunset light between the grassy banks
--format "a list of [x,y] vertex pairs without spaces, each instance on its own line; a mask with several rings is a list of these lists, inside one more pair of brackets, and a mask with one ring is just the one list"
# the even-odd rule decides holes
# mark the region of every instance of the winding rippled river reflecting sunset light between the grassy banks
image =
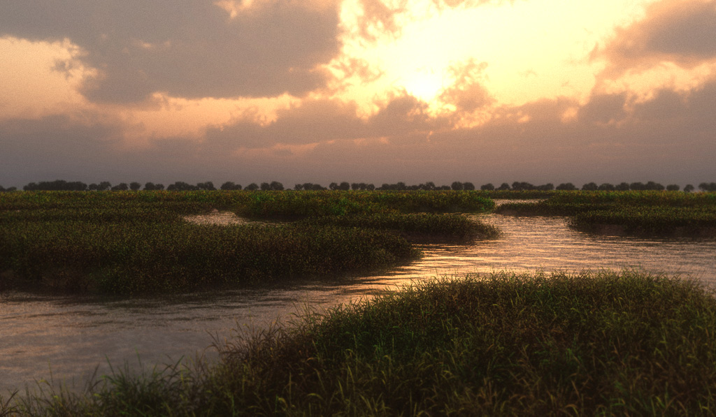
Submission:
[[[716,285],[716,241],[595,236],[565,217],[480,215],[503,230],[473,245],[425,245],[425,256],[390,274],[343,283],[307,281],[275,288],[132,300],[0,295],[0,393],[49,380],[81,389],[125,363],[136,371],[203,355],[238,332],[286,321],[306,306],[321,310],[439,275],[510,270],[579,272],[634,268]],[[41,384],[42,385],[42,384]]]

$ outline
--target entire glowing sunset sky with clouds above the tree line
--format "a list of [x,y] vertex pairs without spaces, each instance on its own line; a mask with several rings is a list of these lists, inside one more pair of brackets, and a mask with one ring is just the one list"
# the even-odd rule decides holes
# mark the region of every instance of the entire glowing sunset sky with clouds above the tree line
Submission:
[[0,186],[716,181],[716,1],[0,1]]

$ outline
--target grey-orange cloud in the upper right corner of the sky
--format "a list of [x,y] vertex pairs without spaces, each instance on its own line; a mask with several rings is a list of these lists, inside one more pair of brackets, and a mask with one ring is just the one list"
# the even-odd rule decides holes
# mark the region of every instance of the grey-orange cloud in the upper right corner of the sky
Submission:
[[646,17],[616,29],[591,59],[605,59],[604,77],[642,71],[664,62],[690,69],[716,58],[716,1],[662,0],[647,7]]

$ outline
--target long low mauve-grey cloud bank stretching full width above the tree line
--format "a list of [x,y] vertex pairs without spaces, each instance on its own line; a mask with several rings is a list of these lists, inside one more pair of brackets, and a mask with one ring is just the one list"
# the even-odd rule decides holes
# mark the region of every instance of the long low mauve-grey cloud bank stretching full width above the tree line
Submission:
[[135,147],[122,139],[122,125],[95,114],[12,119],[0,122],[0,185],[55,179],[697,184],[716,177],[715,102],[712,80],[689,92],[661,89],[639,102],[627,94],[594,94],[581,107],[563,97],[498,107],[490,121],[465,129],[431,117],[425,103],[407,94],[368,119],[352,103],[308,100],[271,124],[237,122],[200,139],[148,139]]

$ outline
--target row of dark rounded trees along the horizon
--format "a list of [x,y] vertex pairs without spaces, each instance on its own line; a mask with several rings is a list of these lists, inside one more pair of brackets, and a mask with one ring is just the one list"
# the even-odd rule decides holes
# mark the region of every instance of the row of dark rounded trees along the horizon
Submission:
[[[99,183],[85,184],[84,182],[74,181],[68,182],[64,180],[55,181],[41,181],[41,182],[30,182],[28,185],[22,187],[25,191],[138,191],[142,189],[142,184],[139,182],[120,182],[117,185],[112,185],[110,182],[102,181]],[[231,181],[224,182],[220,190],[263,190],[263,191],[282,191],[286,190],[284,185],[278,181],[272,182],[251,182],[251,184],[242,187]],[[664,187],[657,182],[649,181],[643,182],[620,182],[619,184],[610,184],[604,182],[601,185],[597,185],[596,182],[588,182],[582,185],[581,188],[571,182],[564,182],[556,187],[552,183],[543,185],[532,185],[529,182],[513,182],[508,184],[503,182],[500,186],[495,187],[493,184],[488,183],[480,186],[480,190],[516,190],[516,191],[531,191],[531,190],[587,190],[587,191],[628,191],[628,190],[656,190],[656,191],[679,191],[681,188],[679,185],[670,184]],[[4,188],[0,186],[0,192],[11,192],[16,191],[16,187]],[[168,190],[168,191],[192,191],[192,190],[217,190],[214,187],[213,182],[198,182],[196,185],[188,184],[187,182],[177,181],[173,184],[165,187],[163,184],[155,184],[154,182],[147,182],[144,185],[144,190]],[[451,185],[435,185],[434,182],[424,182],[419,185],[406,185],[405,182],[396,182],[395,184],[383,184],[380,187],[375,187],[373,184],[367,184],[365,182],[332,182],[327,188],[320,184],[314,184],[312,182],[304,182],[302,184],[294,185],[293,190],[475,190],[475,185],[472,182],[460,182],[455,181]],[[684,192],[692,192],[695,187],[691,184],[684,187]],[[699,184],[699,190],[704,192],[716,192],[716,182],[702,182]]]

